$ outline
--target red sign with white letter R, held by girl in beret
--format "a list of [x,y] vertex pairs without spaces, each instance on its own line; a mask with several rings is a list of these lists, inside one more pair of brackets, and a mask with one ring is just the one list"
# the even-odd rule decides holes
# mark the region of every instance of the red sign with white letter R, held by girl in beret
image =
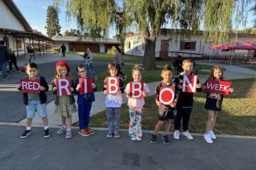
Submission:
[[71,79],[57,79],[57,96],[70,96],[71,91]]

